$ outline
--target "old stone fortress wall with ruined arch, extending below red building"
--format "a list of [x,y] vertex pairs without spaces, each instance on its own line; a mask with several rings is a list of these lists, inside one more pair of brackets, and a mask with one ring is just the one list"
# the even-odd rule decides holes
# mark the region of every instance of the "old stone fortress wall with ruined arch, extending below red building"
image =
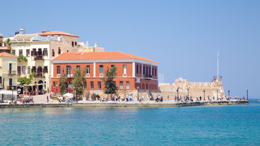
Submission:
[[[182,83],[179,83],[179,82]],[[161,87],[160,87],[161,86]],[[162,87],[163,86],[163,87]],[[203,89],[205,89],[205,98],[209,95],[211,99],[213,100],[213,96],[215,96],[215,100],[217,97],[217,89],[218,89],[218,95],[220,97],[225,97],[224,89],[222,86],[222,80],[221,79],[214,79],[214,82],[187,82],[186,79],[176,79],[175,83],[170,85],[169,83],[159,84],[158,91],[153,90],[139,90],[139,98],[142,96],[145,97],[145,100],[149,100],[150,95],[152,96],[152,100],[154,100],[158,95],[163,96],[164,100],[167,100],[167,96],[169,95],[169,100],[174,100],[174,96],[178,95],[177,87],[179,87],[179,96],[183,97],[188,95],[189,88],[189,96],[192,96],[193,99],[196,99],[196,97],[202,97],[204,98],[204,92]],[[93,95],[93,92],[95,90],[84,90],[83,95],[86,96],[87,100],[91,100],[91,96]],[[101,98],[107,97],[107,94],[103,93],[103,90],[98,90],[99,96]],[[134,99],[137,100],[138,91],[137,90],[118,90],[116,93],[117,96],[120,95],[122,97],[123,95],[133,94]],[[111,95],[109,95],[109,100],[111,99]]]

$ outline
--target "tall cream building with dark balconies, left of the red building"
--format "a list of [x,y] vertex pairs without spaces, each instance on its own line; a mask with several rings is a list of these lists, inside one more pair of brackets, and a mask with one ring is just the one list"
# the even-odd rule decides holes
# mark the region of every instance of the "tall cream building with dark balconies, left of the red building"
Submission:
[[10,43],[13,55],[23,55],[28,59],[28,62],[18,62],[17,76],[29,77],[34,71],[36,75],[33,83],[37,84],[38,89],[50,89],[51,59],[62,52],[72,52],[69,41],[58,35],[45,37],[39,34],[17,34]]

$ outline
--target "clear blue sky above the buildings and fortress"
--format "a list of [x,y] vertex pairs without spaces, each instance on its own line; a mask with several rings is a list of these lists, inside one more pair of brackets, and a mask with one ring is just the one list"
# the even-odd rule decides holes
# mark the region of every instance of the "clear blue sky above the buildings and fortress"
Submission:
[[0,33],[64,31],[79,42],[159,62],[164,83],[179,77],[260,98],[260,1],[3,1]]

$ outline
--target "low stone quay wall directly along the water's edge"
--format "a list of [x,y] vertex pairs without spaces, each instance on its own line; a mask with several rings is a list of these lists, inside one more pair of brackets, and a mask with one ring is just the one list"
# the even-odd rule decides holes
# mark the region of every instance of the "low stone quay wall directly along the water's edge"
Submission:
[[89,103],[29,103],[0,104],[0,108],[29,107],[187,107],[200,105],[249,104],[248,101],[201,101],[201,102],[89,102]]

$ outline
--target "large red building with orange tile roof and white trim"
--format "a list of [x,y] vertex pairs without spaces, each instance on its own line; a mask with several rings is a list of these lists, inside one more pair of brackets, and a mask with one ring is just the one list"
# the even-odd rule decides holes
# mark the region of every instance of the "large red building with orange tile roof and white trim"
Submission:
[[[119,90],[158,90],[158,62],[123,52],[64,52],[52,59],[51,91],[59,92],[59,77],[66,74],[69,85],[72,87],[74,78],[73,69],[87,67],[86,90],[102,90],[104,83],[100,80],[105,76],[105,70],[117,67],[117,76],[114,82]],[[72,69],[71,69],[72,68]]]

